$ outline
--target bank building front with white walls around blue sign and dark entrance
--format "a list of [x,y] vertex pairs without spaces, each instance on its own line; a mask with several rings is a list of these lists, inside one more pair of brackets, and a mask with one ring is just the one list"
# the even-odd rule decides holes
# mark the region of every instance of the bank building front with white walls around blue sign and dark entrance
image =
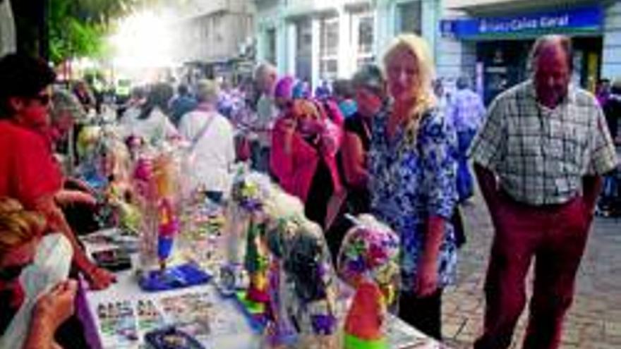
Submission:
[[621,77],[621,1],[445,0],[438,73],[469,75],[486,103],[528,78],[536,37],[572,37],[575,84]]

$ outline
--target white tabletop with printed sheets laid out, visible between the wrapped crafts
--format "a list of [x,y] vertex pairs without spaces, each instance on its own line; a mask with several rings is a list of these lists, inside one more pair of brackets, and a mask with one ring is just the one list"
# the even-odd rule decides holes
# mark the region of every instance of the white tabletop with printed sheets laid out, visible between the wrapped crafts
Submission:
[[[97,249],[86,242],[89,252]],[[138,265],[138,255],[132,255]],[[135,271],[121,271],[107,290],[84,290],[78,315],[93,349],[147,348],[145,333],[179,325],[205,348],[261,348],[262,338],[239,303],[223,298],[212,282],[180,290],[147,293],[138,287]],[[84,284],[83,284],[84,285]],[[346,305],[342,305],[342,311]],[[390,348],[443,348],[396,317],[389,319]]]

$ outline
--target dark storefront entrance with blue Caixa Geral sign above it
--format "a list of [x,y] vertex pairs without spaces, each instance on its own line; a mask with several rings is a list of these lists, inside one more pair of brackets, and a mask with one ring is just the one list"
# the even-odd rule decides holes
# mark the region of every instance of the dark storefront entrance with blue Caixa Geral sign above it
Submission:
[[442,20],[442,35],[476,47],[477,88],[486,104],[500,92],[529,77],[529,51],[546,34],[572,37],[572,80],[593,91],[600,78],[604,12],[598,4],[573,8],[534,8],[504,16]]

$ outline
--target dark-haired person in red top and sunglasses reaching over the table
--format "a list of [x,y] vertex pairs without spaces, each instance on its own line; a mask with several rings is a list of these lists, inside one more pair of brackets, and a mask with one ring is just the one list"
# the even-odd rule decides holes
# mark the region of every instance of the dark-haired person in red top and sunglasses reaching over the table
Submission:
[[18,54],[0,59],[0,196],[44,214],[52,230],[71,241],[73,265],[92,288],[107,288],[114,276],[90,262],[56,204],[63,176],[46,137],[55,79],[44,61]]

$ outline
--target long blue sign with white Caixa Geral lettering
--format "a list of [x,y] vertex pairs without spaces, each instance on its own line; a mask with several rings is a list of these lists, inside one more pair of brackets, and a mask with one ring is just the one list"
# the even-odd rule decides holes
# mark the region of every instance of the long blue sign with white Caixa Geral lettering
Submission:
[[512,17],[442,20],[442,36],[457,39],[528,37],[553,33],[589,33],[602,30],[603,11],[599,6],[562,11],[526,13]]

